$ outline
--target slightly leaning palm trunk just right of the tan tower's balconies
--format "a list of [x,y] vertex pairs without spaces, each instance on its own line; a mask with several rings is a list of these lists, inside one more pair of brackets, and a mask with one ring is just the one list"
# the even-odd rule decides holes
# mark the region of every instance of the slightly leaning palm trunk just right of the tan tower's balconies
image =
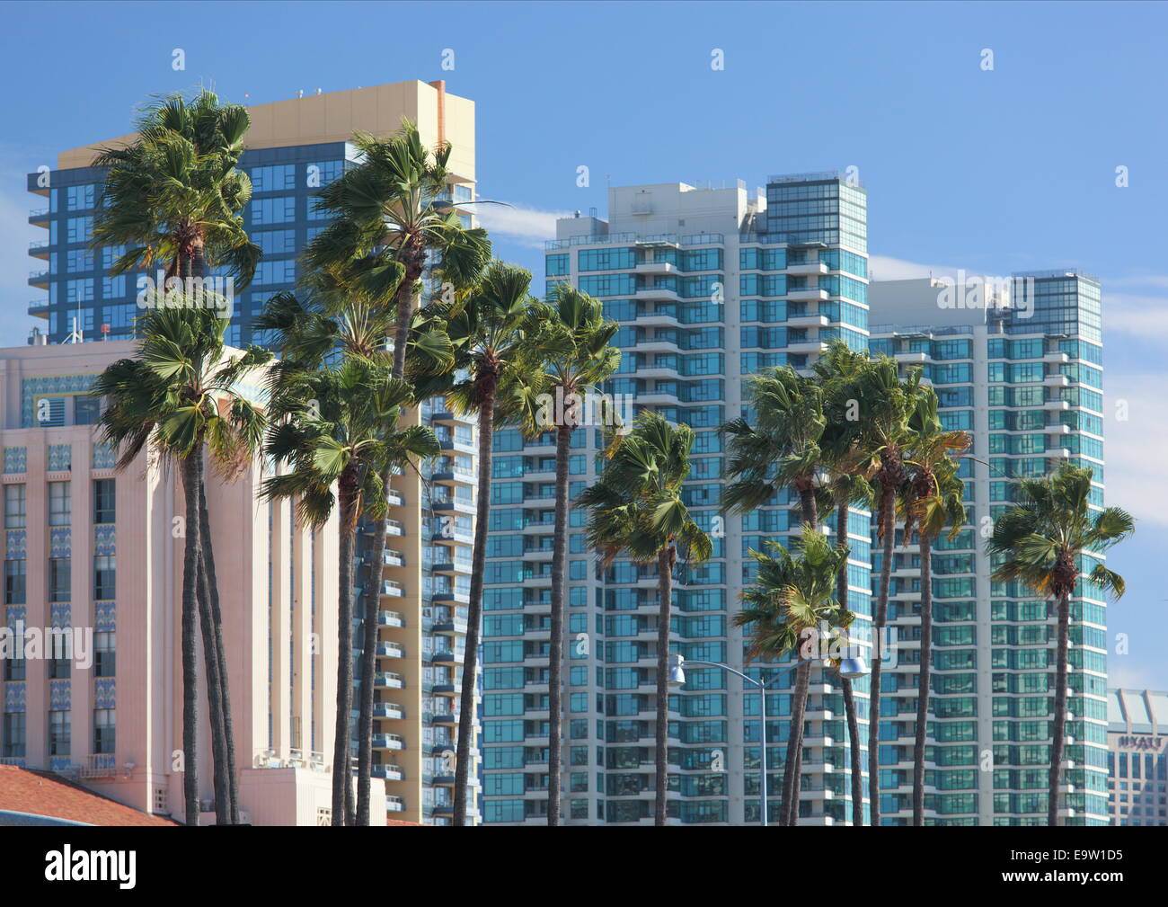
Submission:
[[479,489],[474,515],[474,552],[471,601],[466,608],[466,652],[459,697],[458,750],[454,766],[456,825],[466,825],[466,789],[471,776],[471,736],[474,732],[474,674],[479,663],[479,623],[482,618],[482,574],[486,570],[487,524],[491,517],[491,462],[495,424],[495,389],[499,376],[484,374],[479,395]]

